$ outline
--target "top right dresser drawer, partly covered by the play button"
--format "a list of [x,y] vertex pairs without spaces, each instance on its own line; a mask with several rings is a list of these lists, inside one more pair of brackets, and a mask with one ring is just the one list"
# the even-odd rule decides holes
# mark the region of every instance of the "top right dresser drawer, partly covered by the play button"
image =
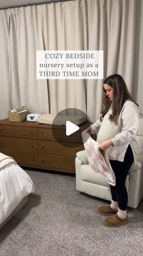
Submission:
[[[56,136],[54,136],[56,135]],[[82,142],[82,136],[81,132],[77,131],[71,134],[70,136],[66,135],[66,130],[65,129],[55,129],[54,130],[54,135],[53,135],[53,130],[52,129],[46,129],[46,128],[38,128],[38,137],[43,137],[43,138],[52,138],[53,140],[64,140],[64,141],[72,141],[74,142]]]

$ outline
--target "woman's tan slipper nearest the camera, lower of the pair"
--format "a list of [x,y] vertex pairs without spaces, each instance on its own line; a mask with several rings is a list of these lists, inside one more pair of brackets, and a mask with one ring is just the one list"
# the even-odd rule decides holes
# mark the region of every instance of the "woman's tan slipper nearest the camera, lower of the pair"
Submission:
[[125,219],[121,219],[117,213],[111,218],[104,219],[104,225],[107,227],[119,227],[125,224],[128,224],[128,216]]

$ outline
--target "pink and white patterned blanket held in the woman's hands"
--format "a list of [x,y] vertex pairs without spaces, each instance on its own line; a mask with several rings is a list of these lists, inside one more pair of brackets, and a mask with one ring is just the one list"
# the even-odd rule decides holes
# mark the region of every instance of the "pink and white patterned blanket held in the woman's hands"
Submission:
[[95,172],[101,172],[105,180],[112,186],[116,184],[115,173],[111,168],[108,155],[105,151],[99,150],[99,143],[91,138],[88,129],[82,132],[82,140],[84,142],[85,152],[88,162]]

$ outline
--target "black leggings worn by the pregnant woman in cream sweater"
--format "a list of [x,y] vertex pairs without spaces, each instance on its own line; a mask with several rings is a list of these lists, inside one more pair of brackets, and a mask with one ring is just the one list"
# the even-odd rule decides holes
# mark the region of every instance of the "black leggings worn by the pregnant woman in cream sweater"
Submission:
[[110,185],[111,199],[118,202],[120,210],[127,210],[128,204],[128,193],[125,188],[125,179],[127,178],[128,171],[134,162],[133,152],[130,144],[128,145],[127,151],[125,152],[124,162],[117,160],[110,160],[110,165],[115,172],[116,185],[115,187]]

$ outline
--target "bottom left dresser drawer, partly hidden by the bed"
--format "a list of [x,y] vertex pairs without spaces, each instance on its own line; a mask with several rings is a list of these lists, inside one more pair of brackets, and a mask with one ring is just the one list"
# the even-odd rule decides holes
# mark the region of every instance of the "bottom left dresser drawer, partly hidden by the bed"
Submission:
[[33,152],[1,149],[1,153],[12,157],[19,165],[38,165],[38,155]]

